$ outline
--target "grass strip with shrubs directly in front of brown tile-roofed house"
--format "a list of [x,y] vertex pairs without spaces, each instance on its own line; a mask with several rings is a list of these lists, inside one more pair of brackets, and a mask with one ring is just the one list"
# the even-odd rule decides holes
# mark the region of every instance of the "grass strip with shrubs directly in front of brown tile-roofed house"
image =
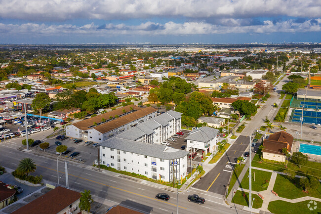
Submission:
[[[283,164],[277,164],[277,163],[269,163],[269,162],[262,162],[260,163],[260,156],[261,156],[261,149],[259,149],[252,161],[252,167],[258,167],[262,169],[267,169],[267,170],[273,170],[273,171],[284,171],[285,167]],[[293,171],[298,171],[298,175],[303,175],[305,176],[304,173],[308,173],[308,171],[313,171],[316,176],[321,178],[321,163],[318,162],[312,162],[308,161],[304,166],[301,166],[301,169],[294,164],[292,161],[289,161],[287,164],[287,169],[293,170]],[[316,170],[314,170],[316,169]],[[311,174],[311,173],[309,173]]]

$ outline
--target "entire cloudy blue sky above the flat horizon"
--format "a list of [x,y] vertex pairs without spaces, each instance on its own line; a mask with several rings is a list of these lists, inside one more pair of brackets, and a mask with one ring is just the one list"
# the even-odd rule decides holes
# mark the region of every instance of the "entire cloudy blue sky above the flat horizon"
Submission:
[[0,0],[0,43],[321,42],[321,0]]

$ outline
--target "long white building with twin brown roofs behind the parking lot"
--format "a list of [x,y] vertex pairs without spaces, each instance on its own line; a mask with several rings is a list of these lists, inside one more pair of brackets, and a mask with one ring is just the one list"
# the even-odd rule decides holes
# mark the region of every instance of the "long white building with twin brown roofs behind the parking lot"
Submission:
[[153,107],[125,106],[66,127],[66,135],[101,143],[157,116]]

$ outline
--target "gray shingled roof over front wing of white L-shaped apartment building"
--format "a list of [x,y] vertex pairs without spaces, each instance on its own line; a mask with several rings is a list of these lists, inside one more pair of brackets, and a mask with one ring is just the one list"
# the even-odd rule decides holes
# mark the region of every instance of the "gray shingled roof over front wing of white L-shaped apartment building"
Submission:
[[189,152],[184,150],[174,149],[160,144],[149,144],[133,140],[120,139],[118,136],[106,140],[99,145],[166,160],[182,158],[189,154]]

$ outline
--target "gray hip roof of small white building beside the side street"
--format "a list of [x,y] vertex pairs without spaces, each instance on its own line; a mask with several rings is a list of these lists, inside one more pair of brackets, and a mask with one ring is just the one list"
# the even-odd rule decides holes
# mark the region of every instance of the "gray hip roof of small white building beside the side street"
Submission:
[[218,129],[201,127],[191,131],[185,139],[206,143],[211,139],[213,139],[214,137],[216,137],[218,133],[219,133]]

